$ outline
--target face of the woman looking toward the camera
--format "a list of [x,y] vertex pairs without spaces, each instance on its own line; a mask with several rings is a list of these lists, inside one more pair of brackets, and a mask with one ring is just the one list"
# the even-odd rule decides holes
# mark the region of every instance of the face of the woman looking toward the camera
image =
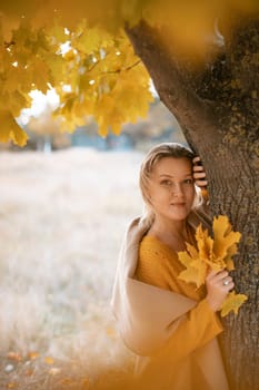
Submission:
[[157,217],[185,220],[195,199],[192,164],[187,158],[161,158],[150,175],[148,195]]

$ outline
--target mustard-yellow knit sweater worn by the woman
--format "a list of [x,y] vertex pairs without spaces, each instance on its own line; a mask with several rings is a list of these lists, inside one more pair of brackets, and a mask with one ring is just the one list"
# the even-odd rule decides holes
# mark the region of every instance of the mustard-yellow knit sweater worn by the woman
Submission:
[[[193,244],[193,234],[189,238]],[[136,277],[143,283],[170,290],[197,301],[197,305],[187,315],[172,324],[175,331],[167,344],[150,357],[147,367],[141,369],[143,378],[146,380],[148,378],[150,389],[156,387],[170,390],[210,389],[196,363],[196,357],[199,353],[202,354],[202,347],[216,338],[222,331],[222,326],[218,315],[205,299],[205,287],[196,289],[195,285],[178,279],[183,269],[177,253],[167,244],[151,235],[142,238]]]

